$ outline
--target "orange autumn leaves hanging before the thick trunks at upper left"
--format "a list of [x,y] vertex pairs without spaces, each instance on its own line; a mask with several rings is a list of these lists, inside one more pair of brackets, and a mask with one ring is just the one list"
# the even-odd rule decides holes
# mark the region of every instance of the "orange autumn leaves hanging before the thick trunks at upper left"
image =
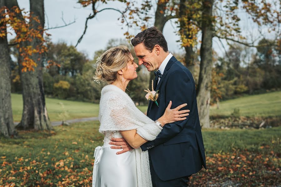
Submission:
[[[34,24],[40,23],[39,19],[37,17],[31,17],[30,13],[18,7],[13,7],[11,10],[7,9],[7,7],[2,7],[0,8],[0,12],[0,37],[7,37],[6,28],[14,31],[16,36],[12,40],[11,45],[18,49],[19,55],[22,57],[22,72],[34,71],[34,68],[37,67],[36,61],[40,61],[39,55],[47,52],[46,41],[43,37],[44,28],[42,26],[38,26],[37,28],[32,26],[32,22]],[[12,33],[9,34],[13,35]],[[49,36],[48,33],[45,32],[45,34]],[[34,40],[39,43],[37,46],[30,44]],[[32,58],[32,55],[35,54],[38,54],[37,59]],[[53,62],[48,63],[50,65],[57,65]]]

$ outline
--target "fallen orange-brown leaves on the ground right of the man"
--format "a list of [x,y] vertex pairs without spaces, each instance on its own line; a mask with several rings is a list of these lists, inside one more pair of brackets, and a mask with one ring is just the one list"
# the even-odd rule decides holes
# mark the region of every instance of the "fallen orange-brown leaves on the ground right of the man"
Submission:
[[[274,186],[280,184],[279,153],[261,146],[263,152],[235,151],[206,156],[207,169],[192,175],[192,186]],[[206,182],[207,181],[207,182]],[[230,184],[231,183],[231,184]]]

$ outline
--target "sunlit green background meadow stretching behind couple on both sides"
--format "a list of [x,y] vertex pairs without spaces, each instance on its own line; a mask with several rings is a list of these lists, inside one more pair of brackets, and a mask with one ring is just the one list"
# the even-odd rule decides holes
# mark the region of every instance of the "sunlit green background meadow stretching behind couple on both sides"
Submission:
[[[46,98],[47,110],[52,121],[62,120],[66,111],[66,119],[98,116],[99,105],[94,103],[67,101]],[[142,112],[147,106],[138,107]],[[212,106],[210,115],[229,116],[234,108],[240,110],[242,116],[279,116],[281,114],[281,91],[259,95],[245,96],[220,103],[219,109]],[[20,121],[22,115],[22,95],[12,94],[12,109],[14,121]]]

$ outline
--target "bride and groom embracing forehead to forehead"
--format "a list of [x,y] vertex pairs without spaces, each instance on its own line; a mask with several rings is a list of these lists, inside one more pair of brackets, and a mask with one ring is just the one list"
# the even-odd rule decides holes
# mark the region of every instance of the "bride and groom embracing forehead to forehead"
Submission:
[[188,186],[189,177],[206,168],[195,82],[190,71],[168,52],[163,34],[150,27],[131,40],[138,64],[155,71],[156,102],[147,116],[125,93],[138,65],[126,46],[98,58],[101,90],[99,131],[104,145],[95,149],[93,187]]

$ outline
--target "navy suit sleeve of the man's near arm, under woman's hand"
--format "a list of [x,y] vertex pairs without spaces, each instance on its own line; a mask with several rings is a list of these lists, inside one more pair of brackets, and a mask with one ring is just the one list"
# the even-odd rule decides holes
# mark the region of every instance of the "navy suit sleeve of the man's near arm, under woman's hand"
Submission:
[[[180,110],[191,109],[193,92],[194,86],[188,74],[184,70],[176,70],[171,73],[167,81],[165,106],[167,107],[169,102],[172,101],[171,108],[176,108],[183,103],[187,103],[187,106]],[[142,151],[158,146],[175,137],[186,125],[189,125],[188,121],[192,117],[192,114],[190,110],[190,115],[187,116],[187,119],[166,124],[155,140],[148,141],[141,146]]]

